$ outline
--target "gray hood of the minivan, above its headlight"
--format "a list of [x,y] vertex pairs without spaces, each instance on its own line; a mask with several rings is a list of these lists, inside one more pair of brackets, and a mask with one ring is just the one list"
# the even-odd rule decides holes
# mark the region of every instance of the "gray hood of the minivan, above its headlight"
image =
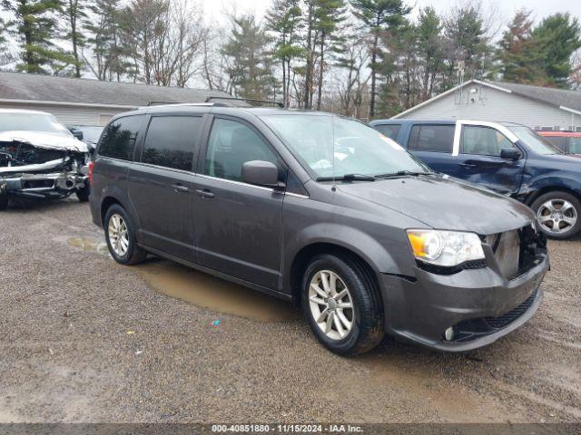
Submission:
[[535,218],[514,199],[443,176],[343,183],[338,189],[437,229],[488,235],[525,227]]

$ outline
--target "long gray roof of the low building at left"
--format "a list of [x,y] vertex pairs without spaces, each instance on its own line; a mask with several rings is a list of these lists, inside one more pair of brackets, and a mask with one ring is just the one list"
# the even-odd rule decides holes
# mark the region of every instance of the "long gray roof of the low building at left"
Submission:
[[0,101],[72,102],[127,108],[146,106],[150,102],[204,102],[210,96],[230,95],[205,89],[0,73]]

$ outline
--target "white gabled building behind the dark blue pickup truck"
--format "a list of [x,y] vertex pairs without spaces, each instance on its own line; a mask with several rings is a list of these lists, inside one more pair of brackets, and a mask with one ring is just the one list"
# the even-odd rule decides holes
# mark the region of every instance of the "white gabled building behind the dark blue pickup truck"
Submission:
[[536,130],[581,131],[581,92],[471,80],[394,118],[511,121]]

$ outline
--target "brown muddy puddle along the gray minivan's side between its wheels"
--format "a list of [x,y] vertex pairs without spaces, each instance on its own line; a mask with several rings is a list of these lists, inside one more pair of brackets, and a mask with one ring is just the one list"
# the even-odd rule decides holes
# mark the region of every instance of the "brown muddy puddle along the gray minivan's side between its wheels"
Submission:
[[134,270],[155,291],[198,307],[261,322],[300,317],[291,303],[231,284],[212,275],[167,260],[151,259]]

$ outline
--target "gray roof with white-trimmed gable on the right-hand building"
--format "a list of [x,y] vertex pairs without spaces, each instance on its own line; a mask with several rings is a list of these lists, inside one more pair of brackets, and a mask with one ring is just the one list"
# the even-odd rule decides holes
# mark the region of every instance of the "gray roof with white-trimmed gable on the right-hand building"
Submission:
[[442,92],[425,102],[420,102],[417,106],[411,107],[407,111],[402,111],[393,118],[399,118],[403,115],[406,115],[411,111],[415,111],[420,107],[428,105],[430,102],[435,102],[436,100],[439,100],[440,98],[445,97],[452,92],[458,91],[460,87],[466,87],[474,83],[496,89],[497,91],[514,93],[520,97],[536,100],[537,102],[545,102],[555,106],[557,109],[573,111],[577,114],[581,114],[581,92],[567,91],[565,89],[557,88],[544,88],[541,86],[532,86],[530,84],[470,80],[456,86],[455,88],[449,89],[446,92]]

